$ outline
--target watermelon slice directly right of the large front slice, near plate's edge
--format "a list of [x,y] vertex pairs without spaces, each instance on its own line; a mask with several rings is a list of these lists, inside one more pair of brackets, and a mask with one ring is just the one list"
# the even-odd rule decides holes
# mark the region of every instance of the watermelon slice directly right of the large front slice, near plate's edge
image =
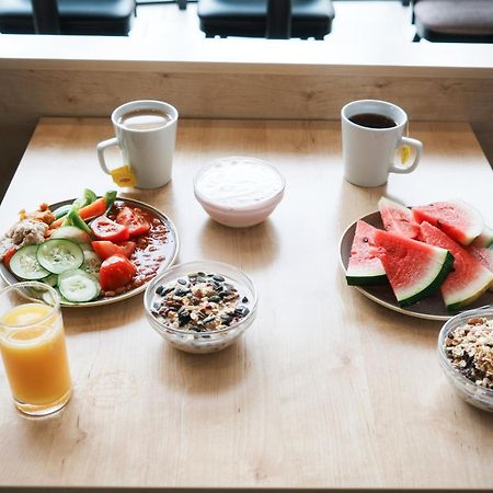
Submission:
[[440,286],[448,311],[468,306],[490,287],[493,282],[493,273],[483,267],[445,232],[425,221],[421,225],[421,237],[426,243],[447,249],[455,257],[454,272]]

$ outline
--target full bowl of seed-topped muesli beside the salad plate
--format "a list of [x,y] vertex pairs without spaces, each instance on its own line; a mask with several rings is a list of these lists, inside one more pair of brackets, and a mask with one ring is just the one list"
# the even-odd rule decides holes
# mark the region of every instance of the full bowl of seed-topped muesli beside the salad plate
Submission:
[[252,280],[222,262],[177,264],[157,276],[144,296],[150,325],[187,353],[214,353],[232,344],[253,322]]

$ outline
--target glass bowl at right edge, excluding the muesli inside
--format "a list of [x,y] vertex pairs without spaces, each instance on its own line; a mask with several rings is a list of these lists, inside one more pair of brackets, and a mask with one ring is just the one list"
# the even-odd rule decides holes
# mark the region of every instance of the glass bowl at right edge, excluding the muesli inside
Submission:
[[[465,311],[448,320],[440,330],[438,335],[438,362],[447,377],[447,380],[457,391],[457,393],[468,403],[493,412],[493,389],[475,383],[475,381],[467,378],[458,368],[456,368],[447,356],[446,341],[448,334],[459,326],[467,325],[468,320],[474,318],[485,318],[493,320],[493,307],[478,308],[475,310]],[[470,325],[473,328],[474,325]],[[491,328],[493,331],[493,325]]]

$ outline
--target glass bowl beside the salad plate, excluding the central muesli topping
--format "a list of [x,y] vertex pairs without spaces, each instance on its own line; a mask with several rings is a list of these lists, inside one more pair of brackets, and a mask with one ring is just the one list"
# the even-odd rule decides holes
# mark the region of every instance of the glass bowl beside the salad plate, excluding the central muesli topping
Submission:
[[[213,278],[213,275],[215,278]],[[232,285],[239,294],[237,301],[234,301],[238,310],[240,313],[246,314],[242,314],[242,318],[238,318],[239,316],[230,316],[230,322],[228,321],[230,324],[219,325],[219,329],[204,330],[204,326],[202,326],[195,330],[182,328],[177,320],[173,322],[167,316],[159,313],[160,308],[163,306],[162,300],[168,295],[167,290],[170,290],[170,294],[173,293],[173,297],[176,293],[180,293],[180,296],[176,297],[176,300],[179,300],[177,306],[180,307],[182,305],[180,300],[183,300],[187,295],[191,303],[197,300],[197,303],[202,303],[202,301],[209,298],[211,302],[213,297],[203,297],[199,299],[194,295],[198,293],[196,289],[199,289],[197,287],[198,284],[196,284],[198,283],[196,282],[197,278],[200,283],[208,283],[207,286],[211,286],[217,293],[225,294],[228,290],[230,291],[232,288],[228,285]],[[220,280],[221,278],[222,280]],[[180,283],[179,279],[181,280]],[[173,287],[173,290],[171,290],[171,287]],[[200,294],[200,296],[203,295]],[[220,307],[222,298],[216,295],[214,296],[217,299],[217,303],[214,303],[213,307]],[[237,267],[222,262],[194,261],[177,264],[161,275],[158,275],[146,289],[144,305],[147,319],[152,329],[172,346],[187,353],[214,353],[232,344],[252,324],[256,316],[257,295],[251,279]],[[208,306],[210,307],[210,305]],[[191,307],[192,305],[185,307],[187,308],[185,310],[186,317],[194,311]],[[188,308],[191,309],[188,310]],[[176,313],[179,312],[180,310],[176,311]],[[228,318],[227,314],[223,314],[223,317]],[[222,317],[221,320],[223,320]]]

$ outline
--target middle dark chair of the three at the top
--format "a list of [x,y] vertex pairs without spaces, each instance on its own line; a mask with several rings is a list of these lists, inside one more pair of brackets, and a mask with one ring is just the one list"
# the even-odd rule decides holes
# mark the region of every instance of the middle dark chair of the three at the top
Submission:
[[[277,37],[268,32],[267,5],[270,0],[198,0],[200,30],[207,37]],[[274,24],[276,12],[268,15]],[[284,12],[280,16],[286,18]],[[331,32],[333,19],[331,0],[293,0],[289,35],[323,39]]]

